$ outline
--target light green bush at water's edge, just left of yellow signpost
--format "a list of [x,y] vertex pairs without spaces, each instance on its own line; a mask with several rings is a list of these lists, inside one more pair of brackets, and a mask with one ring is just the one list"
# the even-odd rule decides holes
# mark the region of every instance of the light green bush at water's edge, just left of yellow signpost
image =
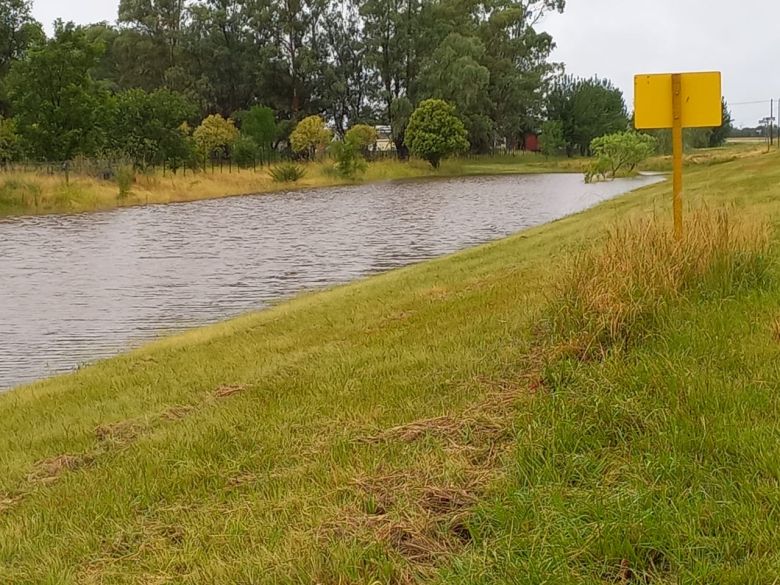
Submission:
[[655,152],[655,138],[634,131],[617,132],[596,138],[590,146],[595,161],[588,171],[588,177],[603,176],[615,178],[629,175],[637,165]]

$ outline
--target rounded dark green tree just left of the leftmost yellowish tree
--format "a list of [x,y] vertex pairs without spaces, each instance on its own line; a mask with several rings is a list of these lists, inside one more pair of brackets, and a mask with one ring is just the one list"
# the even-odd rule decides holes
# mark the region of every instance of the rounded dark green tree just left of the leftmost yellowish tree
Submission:
[[132,89],[117,94],[113,104],[110,143],[136,167],[165,162],[176,166],[187,158],[187,135],[182,124],[192,120],[196,108],[181,94]]

